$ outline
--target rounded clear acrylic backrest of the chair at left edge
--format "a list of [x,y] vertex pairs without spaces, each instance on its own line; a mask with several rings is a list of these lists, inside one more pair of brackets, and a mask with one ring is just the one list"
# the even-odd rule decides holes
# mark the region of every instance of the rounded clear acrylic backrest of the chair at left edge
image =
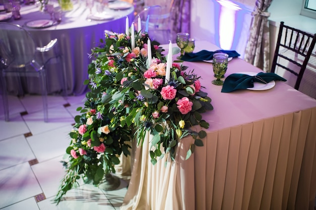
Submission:
[[[11,67],[22,68],[33,61],[36,45],[31,34],[19,25],[0,22],[0,57],[12,55]],[[6,46],[6,47],[5,47]],[[8,56],[7,56],[8,57]]]

